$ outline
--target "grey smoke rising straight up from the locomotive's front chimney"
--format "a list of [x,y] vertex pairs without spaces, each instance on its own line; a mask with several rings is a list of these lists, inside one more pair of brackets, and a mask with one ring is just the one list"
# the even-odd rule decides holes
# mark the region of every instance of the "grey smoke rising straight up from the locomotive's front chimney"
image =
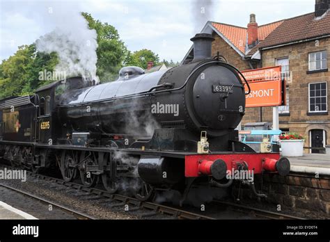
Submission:
[[191,16],[194,24],[194,33],[200,33],[207,21],[212,20],[214,0],[193,0],[191,5]]

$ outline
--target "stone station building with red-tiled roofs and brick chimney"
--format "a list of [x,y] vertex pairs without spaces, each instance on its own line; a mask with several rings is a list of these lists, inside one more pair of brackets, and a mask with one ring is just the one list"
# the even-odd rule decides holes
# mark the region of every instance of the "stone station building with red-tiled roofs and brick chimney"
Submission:
[[[286,84],[286,106],[279,107],[279,127],[306,137],[310,147],[330,145],[330,0],[316,0],[313,13],[258,26],[250,15],[246,27],[207,22],[202,33],[212,33],[212,55],[217,53],[239,70],[281,65]],[[184,60],[193,58],[191,47]],[[272,107],[246,108],[242,126],[272,122]]]

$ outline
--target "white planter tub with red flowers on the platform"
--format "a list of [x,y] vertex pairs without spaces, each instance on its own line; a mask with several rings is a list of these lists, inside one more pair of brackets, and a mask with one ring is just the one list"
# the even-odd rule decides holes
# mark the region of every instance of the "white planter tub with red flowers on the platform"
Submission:
[[297,133],[283,134],[279,136],[281,142],[281,154],[283,156],[303,156],[304,136]]

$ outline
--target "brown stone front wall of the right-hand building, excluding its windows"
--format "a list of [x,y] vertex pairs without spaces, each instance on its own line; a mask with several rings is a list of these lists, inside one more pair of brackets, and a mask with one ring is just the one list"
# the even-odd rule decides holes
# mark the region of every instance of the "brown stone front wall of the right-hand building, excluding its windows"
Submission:
[[[308,74],[308,53],[322,50],[327,50],[329,71]],[[311,129],[324,129],[327,132],[327,144],[330,144],[330,38],[262,51],[262,66],[274,66],[276,58],[285,56],[289,58],[290,68],[290,79],[287,82],[290,114],[280,116],[280,129],[289,129],[289,131],[304,134],[305,146],[310,146],[309,131]],[[308,83],[322,81],[328,83],[328,113],[326,115],[309,115]],[[271,107],[262,108],[262,120],[272,122]]]

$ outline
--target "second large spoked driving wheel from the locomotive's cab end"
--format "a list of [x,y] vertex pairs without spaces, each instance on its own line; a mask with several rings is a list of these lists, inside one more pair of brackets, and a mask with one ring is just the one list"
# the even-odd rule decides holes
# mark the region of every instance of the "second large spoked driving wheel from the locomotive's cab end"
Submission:
[[93,174],[92,172],[86,172],[86,166],[97,166],[95,162],[95,156],[86,156],[85,152],[81,152],[80,156],[80,164],[79,164],[79,172],[80,172],[80,179],[81,183],[86,187],[91,187],[96,184],[97,175]]

